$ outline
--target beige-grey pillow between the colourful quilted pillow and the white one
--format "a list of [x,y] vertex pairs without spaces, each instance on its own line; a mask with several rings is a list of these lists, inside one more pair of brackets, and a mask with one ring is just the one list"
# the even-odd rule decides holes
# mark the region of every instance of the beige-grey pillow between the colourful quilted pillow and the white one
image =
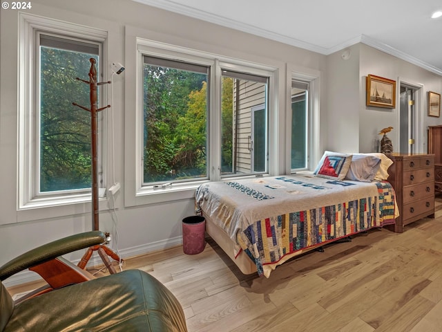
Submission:
[[345,178],[352,181],[372,182],[380,167],[381,158],[364,154],[354,154],[352,164]]

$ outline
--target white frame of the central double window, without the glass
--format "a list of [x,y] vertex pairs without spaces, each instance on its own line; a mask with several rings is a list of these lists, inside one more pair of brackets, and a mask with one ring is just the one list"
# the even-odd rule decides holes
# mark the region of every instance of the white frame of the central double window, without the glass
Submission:
[[[128,37],[128,36],[126,36]],[[194,50],[182,46],[174,46],[171,44],[164,44],[155,42],[150,39],[131,36],[131,40],[126,41],[126,53],[130,53],[130,48],[135,48],[135,66],[131,68],[126,66],[126,71],[131,75],[131,70],[134,71],[136,77],[135,86],[135,105],[131,102],[133,95],[127,93],[133,86],[126,80],[126,109],[135,107],[135,115],[126,113],[126,142],[125,142],[125,180],[126,186],[124,188],[124,197],[126,206],[135,206],[149,203],[162,203],[166,201],[181,200],[192,198],[195,194],[195,189],[202,183],[209,181],[220,181],[221,172],[218,166],[221,165],[221,82],[222,69],[229,71],[250,73],[251,75],[258,75],[268,77],[268,121],[269,121],[269,142],[270,146],[276,146],[276,119],[278,118],[276,112],[278,108],[278,67],[257,64],[253,62],[242,61],[231,57],[224,57],[213,53],[206,53],[200,50]],[[189,61],[191,63],[200,64],[210,67],[209,73],[209,113],[207,115],[207,147],[208,147],[208,167],[209,179],[201,181],[186,181],[182,183],[173,183],[172,186],[154,189],[152,186],[142,186],[142,63],[143,55],[151,57],[160,57],[164,59],[174,59],[178,61]],[[273,113],[273,114],[272,114]],[[135,133],[133,133],[133,126],[135,125]],[[273,128],[272,128],[273,127]],[[133,145],[131,145],[133,142]],[[135,151],[133,150],[135,146]],[[278,151],[272,152],[275,156]],[[135,165],[128,160],[135,160]],[[269,160],[276,160],[277,158],[270,158]],[[277,174],[278,163],[274,161],[269,165],[267,174]],[[262,174],[260,174],[262,176]],[[244,177],[255,177],[247,175]],[[238,176],[235,176],[238,179]],[[227,178],[222,178],[226,180]]]

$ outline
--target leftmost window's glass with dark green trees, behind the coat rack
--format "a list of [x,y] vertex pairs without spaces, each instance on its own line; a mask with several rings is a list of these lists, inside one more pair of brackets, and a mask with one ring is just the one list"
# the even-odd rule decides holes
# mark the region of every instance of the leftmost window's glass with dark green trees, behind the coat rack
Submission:
[[39,35],[39,192],[90,188],[89,59],[99,45],[53,35]]

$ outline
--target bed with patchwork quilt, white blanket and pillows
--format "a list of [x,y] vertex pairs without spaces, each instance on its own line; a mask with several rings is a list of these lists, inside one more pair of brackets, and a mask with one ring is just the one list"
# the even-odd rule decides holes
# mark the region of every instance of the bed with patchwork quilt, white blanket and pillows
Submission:
[[326,151],[314,172],[204,183],[195,212],[242,273],[269,277],[303,252],[393,224],[391,163],[381,154]]

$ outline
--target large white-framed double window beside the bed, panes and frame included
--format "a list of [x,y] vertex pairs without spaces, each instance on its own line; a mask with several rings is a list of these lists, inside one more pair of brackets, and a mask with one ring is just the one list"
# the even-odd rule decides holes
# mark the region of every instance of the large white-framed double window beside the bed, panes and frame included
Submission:
[[270,89],[276,68],[139,38],[137,50],[140,98],[135,116],[126,117],[137,128],[137,178],[125,187],[127,195],[135,194],[126,196],[128,205],[166,201],[159,195],[144,201],[145,195],[193,194],[202,181],[271,173],[269,101],[276,104]]

